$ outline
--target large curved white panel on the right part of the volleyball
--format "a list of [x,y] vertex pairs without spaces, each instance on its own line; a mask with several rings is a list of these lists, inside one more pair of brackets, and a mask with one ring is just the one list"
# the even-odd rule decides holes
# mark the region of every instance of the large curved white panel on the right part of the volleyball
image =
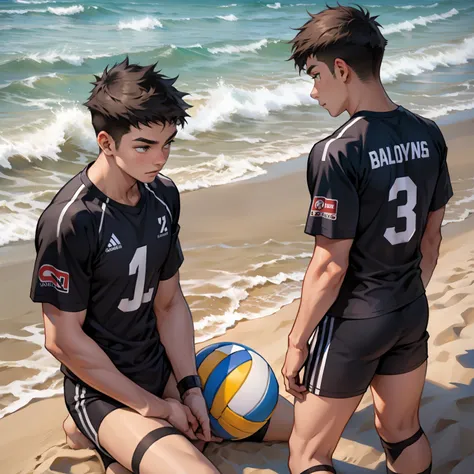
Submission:
[[252,367],[229,403],[229,408],[240,416],[251,412],[262,400],[270,380],[270,370],[267,362],[253,351],[248,351],[252,357]]

